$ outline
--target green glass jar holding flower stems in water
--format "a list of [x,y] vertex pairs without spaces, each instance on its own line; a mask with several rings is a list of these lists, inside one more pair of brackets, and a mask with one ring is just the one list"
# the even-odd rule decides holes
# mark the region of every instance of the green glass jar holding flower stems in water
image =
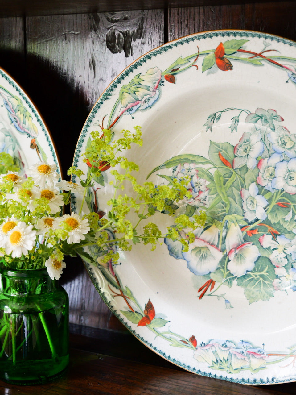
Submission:
[[69,302],[46,269],[0,268],[0,379],[43,384],[69,363]]

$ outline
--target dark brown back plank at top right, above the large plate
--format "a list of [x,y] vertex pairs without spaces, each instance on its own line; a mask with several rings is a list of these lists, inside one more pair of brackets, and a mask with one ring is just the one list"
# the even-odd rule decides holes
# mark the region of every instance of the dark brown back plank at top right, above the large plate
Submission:
[[168,39],[207,30],[256,30],[296,40],[296,2],[236,4],[169,10]]

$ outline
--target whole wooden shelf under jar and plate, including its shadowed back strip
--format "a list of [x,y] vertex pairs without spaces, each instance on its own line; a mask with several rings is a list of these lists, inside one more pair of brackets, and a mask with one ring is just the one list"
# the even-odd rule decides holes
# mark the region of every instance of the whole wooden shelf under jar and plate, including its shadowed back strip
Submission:
[[70,365],[54,382],[15,386],[1,395],[287,395],[296,383],[245,386],[187,372],[148,350],[130,333],[71,325]]

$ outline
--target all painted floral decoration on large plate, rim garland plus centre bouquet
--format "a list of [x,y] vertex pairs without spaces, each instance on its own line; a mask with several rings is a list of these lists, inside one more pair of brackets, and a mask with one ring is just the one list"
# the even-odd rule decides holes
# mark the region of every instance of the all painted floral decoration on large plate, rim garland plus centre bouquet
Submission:
[[[286,79],[287,83],[296,83],[296,73],[292,66],[296,64],[296,58],[285,56],[285,53],[273,49],[272,43],[264,40],[261,40],[263,46],[260,50],[252,50],[251,40],[245,39],[243,34],[234,35],[237,36],[243,39],[222,39],[216,48],[211,49],[197,47],[194,54],[179,56],[167,68],[147,68],[127,83],[124,77],[125,85],[120,85],[111,112],[107,117],[93,121],[92,126],[112,129],[125,115],[133,119],[134,114],[150,111],[159,102],[161,92],[165,90],[167,83],[178,84],[178,75],[192,68],[197,73],[207,75],[206,72],[211,69],[211,72],[231,73],[233,68],[242,63],[250,67],[275,67],[283,70],[283,79]],[[126,75],[132,70],[130,68]],[[118,82],[121,84],[121,80],[116,81]],[[107,90],[106,97],[116,86],[114,84]],[[101,102],[97,108],[100,104]],[[232,309],[236,307],[234,301],[227,299],[227,292],[219,293],[218,289],[221,286],[226,291],[229,290],[234,280],[244,290],[250,304],[259,300],[268,300],[275,292],[292,293],[296,290],[294,268],[296,139],[294,134],[280,125],[284,120],[273,109],[258,108],[250,111],[250,109],[227,108],[217,111],[209,115],[204,124],[205,130],[211,131],[226,113],[232,115],[229,127],[231,132],[237,132],[241,120],[253,125],[253,130],[240,134],[241,137],[236,145],[232,146],[228,143],[217,145],[213,141],[208,156],[179,155],[156,167],[149,175],[157,173],[166,181],[167,173],[162,174],[161,169],[171,169],[172,173],[169,176],[171,179],[189,175],[190,182],[187,188],[191,191],[191,198],[179,202],[179,210],[184,211],[188,216],[206,210],[209,221],[204,229],[197,229],[195,241],[187,252],[182,249],[178,241],[166,240],[168,252],[180,262],[184,261],[193,276],[202,280],[203,285],[198,290],[199,299],[214,296],[218,301],[224,300],[225,309]],[[94,115],[90,120],[93,118]],[[86,130],[87,128],[88,126]],[[105,213],[99,209],[99,190],[108,182],[107,173],[105,169],[102,171],[101,177],[96,180],[97,187],[92,188],[88,193],[88,208],[102,216]],[[110,237],[115,239],[112,232]],[[110,299],[106,295],[110,295],[110,292],[113,297],[124,300],[126,307],[120,312],[115,311],[112,304],[109,304],[111,310],[118,314],[137,337],[140,337],[141,333],[143,336],[141,340],[147,344],[144,333],[151,331],[155,339],[163,339],[173,347],[188,349],[195,361],[191,364],[190,370],[206,376],[227,380],[230,378],[231,381],[244,384],[267,384],[281,381],[281,374],[278,378],[267,379],[262,378],[263,374],[259,380],[253,379],[250,374],[245,375],[249,378],[241,379],[241,376],[236,374],[241,371],[255,374],[266,369],[270,364],[285,360],[287,362],[283,368],[292,364],[294,366],[296,359],[294,346],[287,348],[285,352],[272,353],[265,350],[264,344],[258,347],[258,344],[252,344],[248,340],[214,339],[199,343],[202,339],[196,338],[197,334],[187,334],[188,337],[186,335],[184,337],[172,332],[169,321],[163,318],[165,317],[163,312],[158,312],[156,306],[154,308],[153,295],[150,296],[151,300],[149,299],[146,305],[142,306],[133,292],[122,284],[116,265],[110,261],[102,266],[99,251],[93,250],[92,255],[98,261],[100,273],[107,280],[108,290],[106,288],[104,292],[101,292],[101,288],[96,285],[106,303],[109,304]],[[92,276],[91,270],[89,271]],[[92,279],[94,284],[97,284],[97,280]],[[255,284],[256,288],[258,282],[262,286],[257,292],[253,292],[252,287]],[[141,328],[141,331],[137,328]],[[148,345],[152,346],[152,344]],[[167,351],[164,354],[154,346],[153,348],[170,359]],[[182,361],[175,359],[172,361],[186,368]],[[193,366],[198,367],[195,369]],[[213,374],[208,373],[208,369]],[[280,364],[277,369],[281,370]],[[221,376],[216,376],[216,373]],[[289,380],[294,378],[290,376]]]

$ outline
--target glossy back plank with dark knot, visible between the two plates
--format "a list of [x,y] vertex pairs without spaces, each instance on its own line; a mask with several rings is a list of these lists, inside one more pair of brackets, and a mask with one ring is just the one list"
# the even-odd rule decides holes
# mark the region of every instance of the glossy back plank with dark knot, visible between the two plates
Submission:
[[[161,10],[26,18],[26,90],[49,126],[64,174],[99,95],[134,59],[161,43]],[[70,322],[122,329],[80,259],[67,259],[62,282]]]

